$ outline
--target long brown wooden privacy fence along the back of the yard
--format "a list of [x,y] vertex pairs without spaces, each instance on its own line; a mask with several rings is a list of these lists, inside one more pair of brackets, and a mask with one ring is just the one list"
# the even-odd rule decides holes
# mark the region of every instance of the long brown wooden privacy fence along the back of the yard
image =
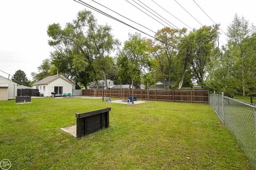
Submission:
[[[102,96],[103,90],[84,89],[83,96]],[[129,98],[132,90],[104,90],[106,97]],[[208,90],[133,90],[137,99],[208,103]]]

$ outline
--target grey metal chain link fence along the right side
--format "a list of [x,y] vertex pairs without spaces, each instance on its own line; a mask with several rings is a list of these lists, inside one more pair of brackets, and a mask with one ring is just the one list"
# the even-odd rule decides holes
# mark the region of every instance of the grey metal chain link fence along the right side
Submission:
[[222,95],[209,95],[209,104],[235,135],[244,154],[256,169],[256,105]]

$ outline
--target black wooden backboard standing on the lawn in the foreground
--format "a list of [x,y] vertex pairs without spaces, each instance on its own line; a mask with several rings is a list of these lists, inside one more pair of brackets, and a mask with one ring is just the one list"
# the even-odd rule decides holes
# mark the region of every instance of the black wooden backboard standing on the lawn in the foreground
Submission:
[[76,138],[109,127],[109,111],[111,107],[85,113],[76,113]]

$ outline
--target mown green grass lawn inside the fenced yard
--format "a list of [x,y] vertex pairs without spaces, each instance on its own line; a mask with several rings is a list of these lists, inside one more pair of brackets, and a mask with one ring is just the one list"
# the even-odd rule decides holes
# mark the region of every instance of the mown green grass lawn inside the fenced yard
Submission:
[[[252,169],[206,104],[101,99],[0,101],[0,160],[12,169]],[[77,140],[75,113],[111,107],[110,128]]]

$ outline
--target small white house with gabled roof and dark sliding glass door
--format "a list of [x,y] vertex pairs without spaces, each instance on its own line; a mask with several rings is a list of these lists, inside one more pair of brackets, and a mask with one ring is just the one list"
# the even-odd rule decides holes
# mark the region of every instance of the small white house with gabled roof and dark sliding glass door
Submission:
[[40,94],[44,97],[51,96],[51,92],[56,95],[72,94],[75,84],[62,74],[51,75],[43,80],[33,84],[33,89],[39,89]]

